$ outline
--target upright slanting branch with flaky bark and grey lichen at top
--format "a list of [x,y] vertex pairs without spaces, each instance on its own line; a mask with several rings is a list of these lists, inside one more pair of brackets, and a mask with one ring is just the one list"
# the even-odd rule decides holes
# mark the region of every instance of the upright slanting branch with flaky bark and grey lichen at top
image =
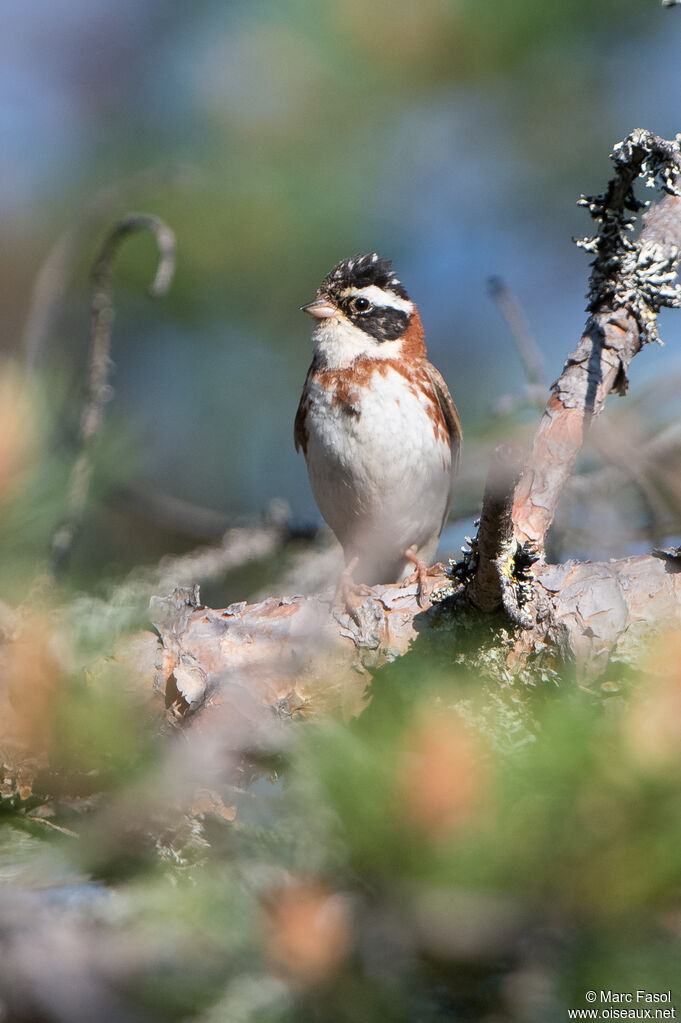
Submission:
[[[656,341],[655,316],[677,307],[681,204],[676,181],[679,143],[649,132],[633,132],[612,152],[616,176],[604,195],[583,198],[598,233],[581,242],[596,255],[592,263],[589,310],[584,335],[552,385],[513,505],[515,535],[543,549],[563,487],[590,421],[607,395],[625,394],[633,357]],[[636,241],[628,237],[630,213],[642,209],[633,193],[636,178],[659,183],[668,195],[644,218]]]

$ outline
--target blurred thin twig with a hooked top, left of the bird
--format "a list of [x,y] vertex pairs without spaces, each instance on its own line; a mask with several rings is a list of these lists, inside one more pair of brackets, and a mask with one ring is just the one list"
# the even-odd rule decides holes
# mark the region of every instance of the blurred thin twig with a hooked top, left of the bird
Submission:
[[110,337],[114,321],[114,263],[123,239],[136,231],[149,231],[158,250],[158,265],[149,294],[165,295],[175,269],[175,235],[158,217],[131,213],[123,217],[109,231],[92,269],[90,303],[90,357],[88,389],[81,415],[79,453],[69,482],[67,513],[52,537],[50,567],[60,575],[69,564],[74,540],[80,528],[92,478],[92,441],[97,434],[104,409],[111,399],[108,383],[111,369]]

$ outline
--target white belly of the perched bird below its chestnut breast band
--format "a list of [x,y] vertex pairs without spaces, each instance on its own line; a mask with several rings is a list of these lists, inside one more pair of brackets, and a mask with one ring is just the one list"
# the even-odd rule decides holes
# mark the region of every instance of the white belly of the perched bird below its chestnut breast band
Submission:
[[432,406],[393,368],[350,405],[314,383],[310,399],[306,457],[319,508],[347,559],[359,558],[358,582],[396,581],[411,569],[408,547],[433,557],[449,505],[451,450]]

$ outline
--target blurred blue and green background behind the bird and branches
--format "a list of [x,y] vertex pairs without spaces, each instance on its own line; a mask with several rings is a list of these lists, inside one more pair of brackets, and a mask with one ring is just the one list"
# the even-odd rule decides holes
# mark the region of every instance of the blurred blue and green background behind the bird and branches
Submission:
[[[550,382],[584,321],[587,258],[571,237],[590,224],[576,199],[604,187],[631,129],[680,127],[678,11],[654,0],[60,0],[57,14],[35,0],[3,14],[1,344],[19,359],[28,349],[50,394],[40,492],[55,514],[96,248],[129,210],[177,234],[164,300],[146,295],[149,238],[127,241],[118,263],[116,394],[78,580],[219,536],[272,498],[294,523],[319,523],[291,440],[311,357],[299,306],[338,259],[372,250],[418,303],[463,419],[441,549],[456,552],[489,445],[525,439],[537,419],[515,400],[499,414],[528,382],[488,278],[516,296]],[[681,372],[678,317],[663,316],[662,333],[667,348],[634,368],[632,446],[674,417],[675,391],[661,404],[645,390]],[[587,469],[608,460],[604,447]],[[593,522],[565,504],[555,553],[622,553],[677,532],[669,486],[630,486],[617,517],[609,501]],[[217,515],[176,521],[164,495]]]

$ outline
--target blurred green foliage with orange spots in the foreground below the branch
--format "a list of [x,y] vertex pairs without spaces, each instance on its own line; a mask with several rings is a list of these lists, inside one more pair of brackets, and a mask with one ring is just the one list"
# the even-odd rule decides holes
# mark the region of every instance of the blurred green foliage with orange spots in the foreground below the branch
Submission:
[[290,722],[246,787],[213,760],[213,790],[200,731],[150,744],[121,674],[54,684],[46,656],[15,653],[34,697],[14,713],[50,767],[42,801],[5,800],[0,872],[46,903],[79,892],[70,954],[96,979],[115,949],[126,1011],[546,1023],[592,988],[674,988],[678,637],[599,691],[486,682],[417,644],[359,718]]

